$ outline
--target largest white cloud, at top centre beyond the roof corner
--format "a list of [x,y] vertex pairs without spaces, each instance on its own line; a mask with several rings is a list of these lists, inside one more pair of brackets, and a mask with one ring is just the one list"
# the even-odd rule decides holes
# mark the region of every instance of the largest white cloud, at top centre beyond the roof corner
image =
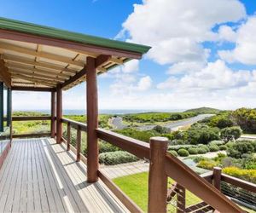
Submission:
[[[212,27],[245,15],[238,0],[144,0],[134,5],[119,36],[128,32],[131,41],[151,45],[148,57],[160,64],[202,61],[209,51],[201,42],[218,37]],[[228,28],[221,29],[221,37],[234,39]]]

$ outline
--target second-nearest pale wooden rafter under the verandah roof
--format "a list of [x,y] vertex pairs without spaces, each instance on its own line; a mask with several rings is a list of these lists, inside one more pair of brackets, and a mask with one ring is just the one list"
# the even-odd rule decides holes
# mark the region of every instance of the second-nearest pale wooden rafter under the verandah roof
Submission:
[[72,69],[67,69],[63,66],[60,65],[56,65],[56,64],[52,64],[49,62],[36,62],[34,60],[30,60],[27,59],[25,57],[21,57],[21,56],[15,56],[15,55],[1,55],[1,59],[3,60],[7,60],[7,61],[14,61],[14,62],[18,62],[18,63],[22,63],[22,64],[28,64],[28,65],[32,65],[32,66],[40,66],[40,67],[44,67],[44,68],[48,68],[51,70],[56,70],[56,71],[61,71],[61,72],[67,72],[67,73],[72,73],[75,74],[77,71],[72,70]]

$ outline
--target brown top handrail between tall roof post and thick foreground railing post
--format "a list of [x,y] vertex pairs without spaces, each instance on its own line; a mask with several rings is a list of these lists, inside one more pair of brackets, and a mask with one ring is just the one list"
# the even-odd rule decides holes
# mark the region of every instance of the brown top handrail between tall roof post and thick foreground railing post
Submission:
[[149,144],[143,141],[120,135],[113,131],[104,130],[102,128],[96,129],[98,138],[107,141],[116,147],[119,147],[128,153],[134,154],[138,158],[149,159]]

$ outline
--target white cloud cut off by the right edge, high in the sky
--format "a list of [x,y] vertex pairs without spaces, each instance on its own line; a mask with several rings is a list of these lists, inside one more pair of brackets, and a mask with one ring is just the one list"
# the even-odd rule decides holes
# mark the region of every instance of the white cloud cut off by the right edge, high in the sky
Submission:
[[247,22],[237,31],[236,48],[218,51],[218,55],[229,62],[238,61],[247,65],[256,65],[256,16],[248,18]]

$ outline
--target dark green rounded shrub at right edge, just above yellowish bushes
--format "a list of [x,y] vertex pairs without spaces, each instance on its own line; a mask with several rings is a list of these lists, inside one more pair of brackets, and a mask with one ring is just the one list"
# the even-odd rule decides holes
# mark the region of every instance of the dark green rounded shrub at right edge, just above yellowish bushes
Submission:
[[228,156],[241,158],[243,154],[255,152],[252,141],[236,141],[227,149]]

